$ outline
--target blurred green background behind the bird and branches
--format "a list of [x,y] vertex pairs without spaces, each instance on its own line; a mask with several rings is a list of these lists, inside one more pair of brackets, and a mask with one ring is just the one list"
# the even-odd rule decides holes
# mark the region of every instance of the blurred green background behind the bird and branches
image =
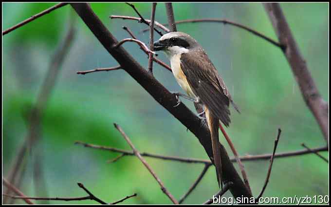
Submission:
[[[54,3],[3,3],[2,31],[37,14]],[[146,19],[150,3],[134,3]],[[128,26],[146,44],[147,28],[132,20],[110,19],[110,15],[137,17],[124,3],[92,3],[92,9],[118,39],[129,38]],[[329,100],[329,4],[281,3],[300,51],[316,85]],[[271,22],[260,3],[173,3],[175,19],[229,19],[276,40]],[[158,3],[156,20],[166,23],[165,4]],[[71,6],[34,20],[2,37],[2,173],[8,178],[18,151],[26,144],[27,117],[37,102],[49,65],[61,47],[70,25],[75,28],[68,53],[59,66],[55,86],[45,101],[40,128],[31,148],[27,146],[15,184],[28,196],[78,197],[93,194],[107,202],[138,193],[125,204],[170,204],[156,181],[136,157],[126,156],[107,163],[118,153],[84,148],[75,141],[130,150],[113,127],[118,123],[141,152],[208,159],[199,141],[143,88],[122,70],[77,75],[77,71],[116,66],[92,32]],[[325,145],[323,135],[301,96],[294,75],[281,50],[242,29],[221,23],[186,23],[179,31],[196,38],[225,80],[241,114],[233,109],[226,132],[240,155],[271,153],[277,128],[282,135],[277,152]],[[155,33],[155,39],[159,38]],[[135,43],[124,47],[145,68],[147,56]],[[164,54],[158,56],[169,63]],[[155,77],[170,91],[183,92],[173,75],[154,63]],[[48,82],[48,81],[46,81]],[[183,102],[192,110],[193,104]],[[36,130],[35,130],[36,131]],[[221,141],[232,156],[223,137]],[[322,152],[328,157],[328,152]],[[146,158],[164,182],[180,198],[203,169],[185,164]],[[268,161],[244,162],[255,196],[260,192]],[[238,166],[235,164],[236,168]],[[314,154],[279,158],[274,162],[266,196],[329,195],[328,164]],[[214,167],[185,200],[200,204],[218,191]],[[228,192],[225,196],[231,196]],[[16,204],[23,203],[16,200]],[[36,202],[63,204],[63,201]],[[76,201],[70,204],[95,204]]]

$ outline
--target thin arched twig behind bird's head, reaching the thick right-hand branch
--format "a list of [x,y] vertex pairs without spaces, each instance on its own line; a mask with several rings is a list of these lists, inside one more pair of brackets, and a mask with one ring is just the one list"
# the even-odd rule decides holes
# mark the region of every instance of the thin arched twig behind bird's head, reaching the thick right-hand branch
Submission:
[[[223,24],[230,24],[230,25],[239,27],[243,30],[246,30],[247,32],[250,32],[250,33],[256,35],[257,37],[260,37],[260,38],[270,42],[271,44],[273,44],[273,45],[275,45],[275,46],[277,46],[281,49],[284,47],[282,44],[276,42],[272,38],[268,38],[267,36],[263,35],[262,33],[257,32],[254,29],[251,29],[251,28],[249,28],[245,25],[242,25],[242,24],[239,24],[239,23],[227,20],[227,19],[184,19],[184,20],[176,21],[175,24],[196,23],[196,22],[218,22],[218,23],[223,23]],[[168,25],[168,24],[163,24],[163,25],[165,26],[165,25]],[[142,30],[142,32],[147,32],[147,31],[148,31],[148,29]]]

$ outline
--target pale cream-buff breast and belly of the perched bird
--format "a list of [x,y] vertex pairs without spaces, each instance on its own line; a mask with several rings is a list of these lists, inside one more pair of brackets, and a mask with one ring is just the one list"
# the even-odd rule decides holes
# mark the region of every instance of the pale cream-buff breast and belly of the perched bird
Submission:
[[187,82],[186,75],[183,73],[181,68],[181,54],[174,55],[170,58],[171,70],[173,75],[176,78],[178,84],[182,87],[182,89],[192,98],[196,98],[193,93],[190,85]]

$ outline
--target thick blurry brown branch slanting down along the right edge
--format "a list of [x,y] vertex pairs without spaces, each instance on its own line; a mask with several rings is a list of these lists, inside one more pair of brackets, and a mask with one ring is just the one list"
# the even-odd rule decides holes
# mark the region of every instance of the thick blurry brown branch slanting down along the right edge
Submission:
[[329,146],[329,105],[321,97],[315,85],[306,61],[300,53],[279,3],[264,3],[264,7],[274,26],[280,44],[285,46],[283,53],[291,66],[301,94],[307,106],[315,116],[323,132],[327,146]]

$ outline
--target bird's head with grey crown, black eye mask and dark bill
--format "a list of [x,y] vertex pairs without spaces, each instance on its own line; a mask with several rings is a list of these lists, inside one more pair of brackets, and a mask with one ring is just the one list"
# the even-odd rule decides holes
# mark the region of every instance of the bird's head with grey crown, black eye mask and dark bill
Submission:
[[171,56],[187,53],[199,47],[197,40],[183,32],[169,32],[154,42],[154,51],[163,51]]

